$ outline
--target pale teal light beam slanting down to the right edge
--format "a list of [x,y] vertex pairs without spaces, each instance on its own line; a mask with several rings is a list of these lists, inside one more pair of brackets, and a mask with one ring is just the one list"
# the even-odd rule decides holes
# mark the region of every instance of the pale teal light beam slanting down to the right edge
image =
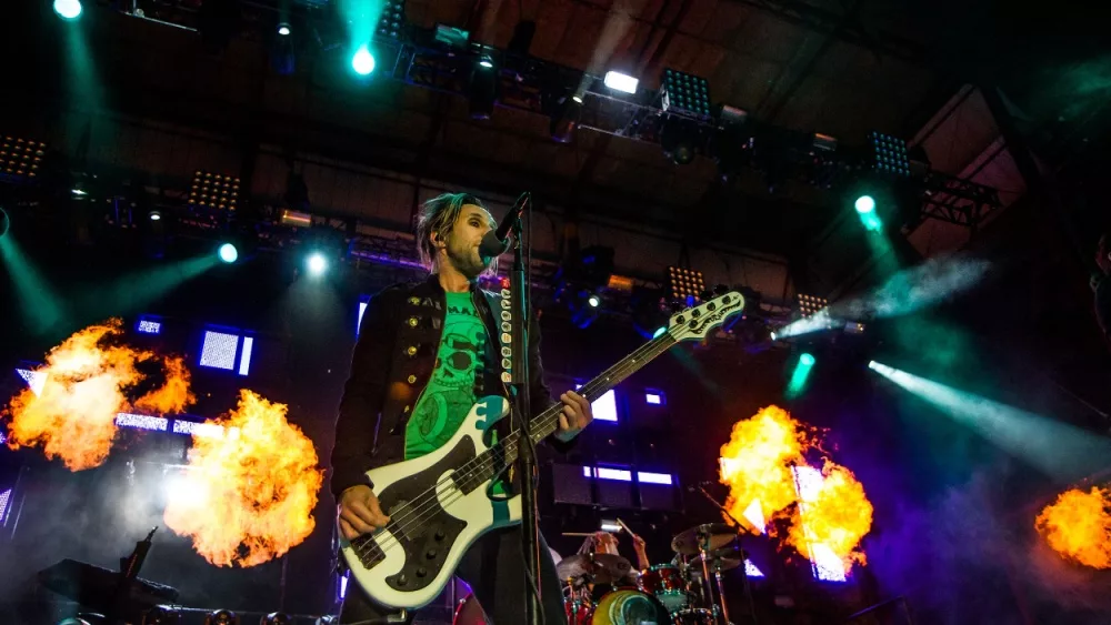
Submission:
[[1111,440],[872,361],[869,369],[1061,484],[1107,468]]

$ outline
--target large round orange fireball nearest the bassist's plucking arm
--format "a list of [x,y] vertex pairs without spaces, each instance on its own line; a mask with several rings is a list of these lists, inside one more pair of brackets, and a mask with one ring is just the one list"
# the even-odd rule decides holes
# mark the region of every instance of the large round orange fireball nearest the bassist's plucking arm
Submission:
[[189,464],[163,518],[217,566],[256,566],[312,532],[323,482],[317,450],[286,421],[284,404],[240,391],[239,406],[218,419],[222,435],[193,436]]

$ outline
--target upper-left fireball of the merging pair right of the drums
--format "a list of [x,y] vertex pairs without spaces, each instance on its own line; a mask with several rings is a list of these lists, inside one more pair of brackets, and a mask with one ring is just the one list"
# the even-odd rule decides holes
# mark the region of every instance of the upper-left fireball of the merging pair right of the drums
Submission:
[[762,533],[751,511],[745,512],[758,505],[761,516],[771,520],[793,504],[798,493],[791,466],[805,464],[802,455],[812,446],[813,440],[802,424],[778,406],[768,406],[733,424],[729,443],[721,447],[718,467],[719,480],[729,486],[729,513],[748,520],[750,531]]

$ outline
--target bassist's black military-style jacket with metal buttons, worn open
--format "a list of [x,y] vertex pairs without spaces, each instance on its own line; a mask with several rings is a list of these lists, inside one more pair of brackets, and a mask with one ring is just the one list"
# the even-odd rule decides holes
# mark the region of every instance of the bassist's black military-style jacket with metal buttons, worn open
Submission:
[[[500,380],[501,332],[492,310],[501,295],[476,289],[474,309],[487,325],[483,367],[476,376],[476,397],[506,396]],[[332,447],[332,493],[370,484],[366,472],[404,460],[406,424],[432,375],[444,320],[447,298],[436,274],[416,284],[397,284],[374,295],[363,312],[351,374],[343,389]],[[529,376],[532,414],[552,404],[540,362],[540,329],[533,315],[529,330]],[[509,419],[499,424],[508,433]],[[557,448],[564,445],[556,444]]]

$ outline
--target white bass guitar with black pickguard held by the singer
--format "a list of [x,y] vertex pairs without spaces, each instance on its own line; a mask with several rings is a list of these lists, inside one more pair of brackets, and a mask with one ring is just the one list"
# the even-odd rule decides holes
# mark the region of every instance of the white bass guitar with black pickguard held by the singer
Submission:
[[[700,341],[744,309],[744,298],[730,292],[675,313],[667,331],[579,389],[594,401],[660,354],[682,341]],[[521,522],[521,498],[491,496],[491,482],[517,460],[520,432],[493,445],[493,425],[509,414],[509,402],[486,396],[476,402],[448,443],[413,460],[367,472],[390,522],[374,532],[341,543],[351,579],[376,602],[392,608],[418,608],[440,594],[463,553],[482,534]],[[559,427],[562,404],[530,420],[540,442]]]

